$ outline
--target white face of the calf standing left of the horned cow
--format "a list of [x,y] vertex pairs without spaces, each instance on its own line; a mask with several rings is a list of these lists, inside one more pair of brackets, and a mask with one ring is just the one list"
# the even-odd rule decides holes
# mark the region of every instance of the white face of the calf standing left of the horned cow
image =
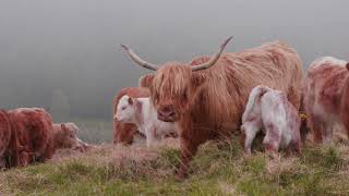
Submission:
[[121,97],[117,107],[115,119],[123,123],[131,123],[135,113],[133,103],[134,101],[131,97],[127,95]]

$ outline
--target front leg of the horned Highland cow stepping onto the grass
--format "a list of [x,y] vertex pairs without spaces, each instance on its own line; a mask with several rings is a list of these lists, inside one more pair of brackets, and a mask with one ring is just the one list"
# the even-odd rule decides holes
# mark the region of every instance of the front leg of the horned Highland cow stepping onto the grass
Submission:
[[192,143],[191,139],[188,139],[183,136],[180,137],[181,145],[181,162],[179,170],[174,177],[177,180],[182,180],[188,175],[189,162],[192,160],[193,156],[197,151],[197,143]]

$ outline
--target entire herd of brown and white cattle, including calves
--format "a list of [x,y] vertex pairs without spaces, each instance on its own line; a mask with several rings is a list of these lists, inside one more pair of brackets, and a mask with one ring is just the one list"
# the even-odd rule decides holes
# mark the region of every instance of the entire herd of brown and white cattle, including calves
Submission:
[[[315,60],[303,74],[297,51],[273,41],[241,52],[224,53],[228,38],[213,57],[160,65],[141,59],[154,71],[140,87],[122,88],[113,100],[115,144],[146,145],[178,137],[181,161],[177,179],[188,175],[201,144],[240,133],[246,155],[258,132],[267,152],[300,155],[309,132],[316,143],[332,140],[334,125],[349,135],[349,63],[332,57]],[[50,159],[56,149],[84,150],[74,123],[53,124],[39,108],[0,110],[0,167],[27,166]]]

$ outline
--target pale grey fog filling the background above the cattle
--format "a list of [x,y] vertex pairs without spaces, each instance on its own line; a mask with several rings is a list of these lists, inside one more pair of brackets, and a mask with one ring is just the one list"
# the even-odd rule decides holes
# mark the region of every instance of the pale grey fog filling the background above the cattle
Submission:
[[349,60],[347,0],[0,2],[1,108],[45,107],[62,119],[110,119],[116,93],[147,73],[120,44],[153,63],[212,54],[231,35],[230,52],[281,39],[304,66]]

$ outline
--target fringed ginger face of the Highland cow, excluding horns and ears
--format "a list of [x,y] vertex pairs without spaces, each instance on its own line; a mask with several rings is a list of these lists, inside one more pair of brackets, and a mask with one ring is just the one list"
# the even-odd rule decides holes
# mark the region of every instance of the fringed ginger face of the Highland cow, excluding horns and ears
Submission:
[[196,74],[190,65],[176,63],[164,65],[155,73],[149,89],[159,120],[176,122],[189,110],[196,86],[194,78]]

